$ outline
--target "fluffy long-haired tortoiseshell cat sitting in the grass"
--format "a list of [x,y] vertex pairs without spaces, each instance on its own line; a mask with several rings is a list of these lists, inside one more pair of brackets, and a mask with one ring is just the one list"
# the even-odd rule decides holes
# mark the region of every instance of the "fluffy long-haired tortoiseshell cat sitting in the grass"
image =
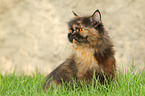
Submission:
[[50,82],[55,85],[73,80],[89,83],[94,72],[101,83],[114,78],[116,64],[113,44],[102,24],[100,11],[83,17],[73,14],[74,19],[68,23],[68,40],[73,45],[74,53],[48,74],[44,90]]

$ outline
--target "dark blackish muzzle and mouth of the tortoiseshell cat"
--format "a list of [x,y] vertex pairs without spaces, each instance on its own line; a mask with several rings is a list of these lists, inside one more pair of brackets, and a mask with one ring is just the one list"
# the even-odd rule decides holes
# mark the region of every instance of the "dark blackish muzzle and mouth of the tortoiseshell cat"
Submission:
[[79,34],[73,34],[73,33],[69,33],[68,34],[68,39],[70,42],[78,42],[78,43],[88,43],[88,40],[87,40],[87,36],[86,37],[83,37]]

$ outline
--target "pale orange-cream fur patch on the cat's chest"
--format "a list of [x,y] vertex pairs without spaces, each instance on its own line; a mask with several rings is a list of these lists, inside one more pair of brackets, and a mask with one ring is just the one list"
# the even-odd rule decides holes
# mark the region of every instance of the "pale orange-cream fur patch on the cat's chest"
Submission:
[[75,48],[75,61],[80,70],[97,69],[99,67],[94,52],[94,49],[82,47]]

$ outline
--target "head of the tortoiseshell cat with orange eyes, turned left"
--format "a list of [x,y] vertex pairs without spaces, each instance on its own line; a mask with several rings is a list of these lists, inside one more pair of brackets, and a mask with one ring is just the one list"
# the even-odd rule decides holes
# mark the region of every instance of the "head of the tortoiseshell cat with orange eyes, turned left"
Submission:
[[105,34],[101,13],[96,10],[91,16],[80,17],[75,12],[69,25],[68,39],[78,46],[97,46]]

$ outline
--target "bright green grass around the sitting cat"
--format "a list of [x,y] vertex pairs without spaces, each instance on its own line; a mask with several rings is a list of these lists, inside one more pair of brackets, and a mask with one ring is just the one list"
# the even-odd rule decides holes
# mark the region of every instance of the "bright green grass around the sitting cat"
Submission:
[[[83,86],[68,88],[65,86],[48,89],[44,93],[41,86],[44,75],[34,74],[33,76],[2,76],[0,74],[0,96],[144,96],[145,95],[145,71],[137,74],[133,72],[119,72],[118,81],[110,85],[96,87]],[[96,81],[97,82],[97,81]]]

